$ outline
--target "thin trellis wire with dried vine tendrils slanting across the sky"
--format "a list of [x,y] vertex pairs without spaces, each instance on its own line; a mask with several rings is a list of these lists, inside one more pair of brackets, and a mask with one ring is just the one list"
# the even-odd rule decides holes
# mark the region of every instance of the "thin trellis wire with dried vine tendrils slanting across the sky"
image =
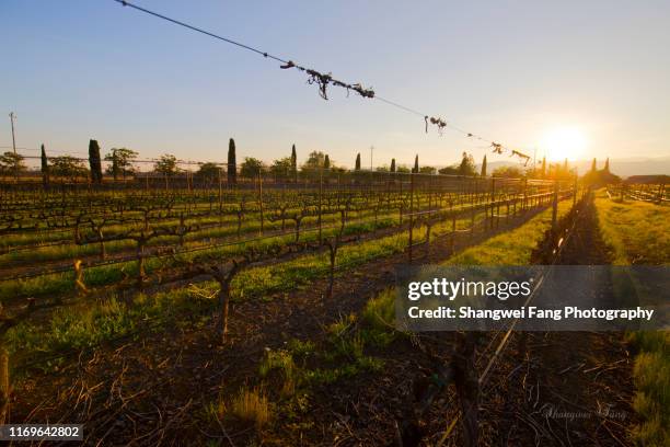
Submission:
[[347,89],[347,92],[349,90],[354,90],[354,91],[356,91],[357,93],[359,93],[363,98],[376,99],[378,101],[381,101],[384,104],[391,105],[391,106],[396,107],[398,110],[402,110],[402,111],[405,111],[407,113],[414,114],[416,116],[423,117],[424,121],[425,121],[425,124],[426,124],[426,133],[428,133],[428,124],[430,123],[430,124],[437,126],[438,133],[440,135],[441,135],[441,133],[442,133],[442,130],[444,128],[450,128],[450,129],[452,129],[454,131],[458,131],[458,133],[464,135],[467,138],[474,138],[474,139],[480,140],[480,141],[488,142],[490,145],[490,147],[493,147],[493,151],[495,153],[501,154],[503,150],[507,150],[507,151],[510,151],[512,156],[524,156],[524,154],[522,154],[519,151],[511,151],[511,149],[509,149],[506,146],[500,145],[499,142],[496,142],[494,140],[489,140],[489,139],[484,138],[484,137],[482,137],[480,135],[476,135],[474,133],[466,131],[466,130],[464,130],[462,128],[459,128],[457,126],[448,124],[448,122],[443,121],[440,117],[435,117],[435,116],[431,116],[430,114],[425,114],[425,113],[418,112],[418,111],[416,111],[416,110],[414,110],[412,107],[408,107],[406,105],[403,105],[403,104],[401,104],[398,102],[391,101],[391,100],[388,100],[385,98],[379,96],[378,94],[376,94],[376,92],[372,89],[366,89],[360,83],[351,84],[351,83],[339,81],[337,79],[334,79],[331,73],[323,73],[323,72],[316,71],[314,69],[309,69],[309,68],[302,67],[302,66],[297,65],[296,62],[293,62],[291,59],[287,59],[285,57],[279,57],[279,56],[273,55],[270,53],[267,53],[267,51],[264,51],[262,49],[255,48],[253,46],[243,44],[243,43],[234,41],[232,38],[223,37],[221,35],[215,34],[212,32],[203,30],[203,28],[200,28],[198,26],[190,25],[190,24],[188,24],[186,22],[169,18],[169,16],[166,16],[164,14],[161,14],[161,13],[158,13],[158,12],[154,12],[154,11],[150,11],[150,10],[148,10],[146,8],[139,7],[139,5],[134,4],[134,3],[129,2],[129,1],[125,1],[125,0],[114,0],[114,1],[119,3],[119,4],[123,4],[124,7],[132,8],[135,10],[137,10],[137,11],[140,11],[140,12],[143,12],[146,14],[152,15],[154,18],[168,21],[168,22],[173,23],[175,25],[183,26],[183,27],[188,28],[190,31],[195,31],[197,33],[207,35],[209,37],[216,38],[216,39],[221,41],[221,42],[226,42],[226,43],[231,44],[231,45],[235,45],[235,46],[238,46],[238,47],[240,47],[242,49],[246,49],[249,51],[252,51],[252,53],[255,53],[257,55],[261,55],[264,58],[268,58],[268,59],[273,59],[273,60],[276,60],[278,62],[281,62],[282,65],[281,65],[280,68],[282,68],[282,69],[297,68],[300,71],[305,71],[310,76],[310,79],[308,80],[308,82],[311,83],[311,84],[315,83],[315,84],[319,85],[319,93],[320,93],[320,95],[324,100],[327,100],[326,87],[330,85],[330,84],[345,88],[345,89]]

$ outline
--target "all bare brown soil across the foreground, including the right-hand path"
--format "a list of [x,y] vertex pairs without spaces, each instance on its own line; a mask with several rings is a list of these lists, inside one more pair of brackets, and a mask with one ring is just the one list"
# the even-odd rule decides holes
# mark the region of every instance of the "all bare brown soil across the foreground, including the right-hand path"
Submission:
[[[577,263],[598,242],[594,214],[568,241],[563,263]],[[501,232],[528,218],[503,221]],[[457,251],[493,236],[463,234]],[[450,241],[416,250],[421,263],[451,254]],[[607,256],[607,252],[600,253]],[[380,290],[394,284],[394,267],[406,261],[398,253],[346,272],[335,282],[333,298],[324,298],[326,280],[266,300],[232,307],[230,340],[219,346],[212,328],[169,328],[127,344],[81,355],[59,374],[37,371],[14,389],[12,421],[81,422],[90,445],[393,445],[397,421],[414,403],[416,385],[430,375],[434,359],[416,341],[397,337],[369,354],[384,360],[376,373],[362,373],[333,385],[313,387],[303,409],[279,410],[269,427],[206,423],[204,406],[218,396],[255,386],[258,364],[267,348],[292,339],[319,341],[324,328],[340,316],[358,312]],[[589,256],[592,256],[589,254]],[[605,263],[607,257],[588,257]],[[435,355],[449,358],[453,334],[426,337]],[[489,353],[495,334],[484,334],[477,353]],[[512,335],[506,354],[481,391],[482,445],[627,445],[626,427],[633,387],[631,358],[621,333],[534,333],[520,349]],[[486,355],[476,367],[482,368]],[[270,398],[276,396],[267,385]],[[436,445],[458,415],[453,387],[437,397],[423,417],[425,445]],[[423,444],[421,444],[423,445]],[[460,424],[443,445],[462,445]]]

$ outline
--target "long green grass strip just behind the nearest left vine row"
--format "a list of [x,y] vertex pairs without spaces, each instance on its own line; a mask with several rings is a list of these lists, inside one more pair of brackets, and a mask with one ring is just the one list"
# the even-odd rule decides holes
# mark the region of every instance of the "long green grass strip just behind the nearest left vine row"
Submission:
[[[469,219],[459,221],[465,225]],[[436,226],[440,228],[451,227],[451,222]],[[416,229],[416,240],[425,234],[425,229]],[[346,271],[393,253],[397,253],[407,245],[407,233],[392,234],[362,243],[343,247],[338,251],[337,264]],[[231,298],[233,301],[244,299],[267,299],[270,294],[290,291],[305,287],[314,279],[324,277],[328,273],[327,254],[309,254],[299,256],[292,261],[270,266],[244,270],[235,276],[231,285]],[[88,276],[86,284],[93,280],[104,283],[109,276],[118,275],[119,272],[91,268],[96,276]],[[26,282],[33,287],[49,287],[55,289],[54,283],[43,283],[45,278],[35,278]],[[61,278],[61,288],[71,287],[70,277]],[[7,285],[5,285],[7,286]],[[216,303],[213,299],[203,298],[213,296],[218,285],[216,282],[198,283],[190,287],[184,287],[151,296],[140,295],[132,303],[118,303],[115,301],[99,302],[90,298],[82,300],[80,306],[66,307],[53,313],[47,324],[44,322],[25,322],[13,328],[8,333],[7,344],[10,351],[22,354],[41,353],[51,354],[61,349],[82,348],[94,346],[119,335],[134,333],[145,321],[153,323],[178,323],[195,320],[201,321],[204,316],[213,311]],[[25,290],[25,289],[24,289]],[[367,336],[367,335],[366,335]],[[379,341],[382,343],[383,341]],[[363,363],[368,360],[362,360]],[[366,367],[373,365],[367,365]],[[47,365],[47,367],[50,367]],[[351,370],[349,370],[350,374]],[[315,373],[317,376],[320,373]],[[325,374],[325,373],[324,373]],[[344,374],[344,373],[343,373]],[[326,374],[327,376],[327,374]],[[330,376],[328,376],[330,377]],[[339,377],[335,374],[331,379]],[[327,377],[324,380],[330,380]]]

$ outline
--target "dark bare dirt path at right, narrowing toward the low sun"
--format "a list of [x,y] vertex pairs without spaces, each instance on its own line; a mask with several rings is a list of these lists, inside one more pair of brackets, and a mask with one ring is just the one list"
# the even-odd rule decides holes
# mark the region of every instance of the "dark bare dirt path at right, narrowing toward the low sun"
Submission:
[[[609,263],[591,200],[558,264]],[[633,358],[623,339],[621,332],[528,333],[523,366],[515,368],[512,355],[494,380],[503,405],[484,411],[492,444],[631,445]]]

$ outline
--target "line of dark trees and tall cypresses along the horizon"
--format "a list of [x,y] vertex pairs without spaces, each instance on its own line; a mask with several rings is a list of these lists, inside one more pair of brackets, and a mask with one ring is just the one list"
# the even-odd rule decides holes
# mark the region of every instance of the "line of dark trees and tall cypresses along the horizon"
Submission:
[[[89,142],[89,167],[85,165],[84,160],[72,156],[47,157],[44,145],[42,145],[41,149],[41,174],[45,184],[48,184],[50,177],[67,179],[70,181],[84,177],[90,179],[92,183],[102,183],[104,174],[118,181],[134,177],[138,173],[135,165],[139,156],[137,151],[127,148],[113,148],[103,159],[101,158],[100,145],[94,139],[91,139]],[[104,174],[102,167],[103,160],[106,162]],[[596,160],[593,160],[592,170],[585,175],[586,180],[608,183],[619,179],[615,175],[612,176],[613,174],[610,173],[609,159],[602,171],[597,171],[594,167]],[[307,160],[299,167],[296,145],[292,146],[290,156],[276,159],[269,164],[254,157],[245,157],[241,163],[238,163],[235,141],[231,138],[229,140],[228,161],[226,164],[213,162],[200,163],[198,170],[193,173],[193,175],[198,180],[206,180],[209,182],[226,177],[228,183],[234,184],[238,180],[238,175],[241,177],[254,179],[259,174],[269,173],[277,180],[298,181],[299,173],[301,175],[308,175],[323,170],[334,173],[351,171],[344,167],[338,167],[327,153],[322,151],[310,152]],[[26,171],[25,160],[21,154],[8,151],[0,156],[0,175],[19,175]],[[353,171],[362,171],[360,153],[356,156]],[[575,170],[569,168],[567,159],[564,163],[547,164],[544,158],[530,169],[506,165],[499,167],[489,173],[487,172],[486,156],[484,156],[482,164],[477,168],[473,156],[467,152],[462,153],[460,162],[441,169],[431,165],[419,165],[419,158],[418,154],[416,154],[413,167],[397,164],[396,160],[392,159],[390,164],[378,167],[376,171],[530,179],[570,179],[576,175]],[[185,170],[180,168],[180,161],[175,156],[165,153],[154,162],[152,172],[165,177],[172,177],[185,172]],[[598,172],[600,173],[598,174]]]

